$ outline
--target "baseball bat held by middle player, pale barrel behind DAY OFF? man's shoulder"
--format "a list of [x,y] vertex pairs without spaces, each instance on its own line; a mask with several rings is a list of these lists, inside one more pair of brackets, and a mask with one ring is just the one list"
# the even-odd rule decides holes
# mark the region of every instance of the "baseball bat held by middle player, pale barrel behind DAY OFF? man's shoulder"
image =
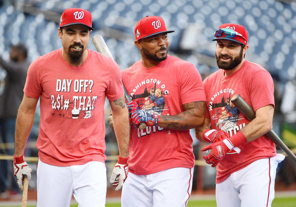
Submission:
[[[101,35],[99,35],[99,34],[95,35],[92,38],[92,43],[94,44],[94,46],[96,47],[96,49],[97,49],[97,51],[99,53],[113,59],[113,56],[112,56],[111,52],[109,51],[109,48],[106,45],[105,40],[103,39],[103,37]],[[124,97],[125,97],[125,99],[127,100],[127,102],[131,102],[132,99],[130,98],[129,93],[126,91],[126,88],[125,88],[124,85],[123,85],[123,89],[124,89]],[[145,129],[146,126],[147,126],[146,123],[141,123],[141,124],[139,124],[138,128],[139,129]]]

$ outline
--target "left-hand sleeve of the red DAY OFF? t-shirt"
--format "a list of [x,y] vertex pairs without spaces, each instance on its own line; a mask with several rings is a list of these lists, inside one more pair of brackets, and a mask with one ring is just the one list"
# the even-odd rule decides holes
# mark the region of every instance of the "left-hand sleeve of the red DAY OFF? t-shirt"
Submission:
[[31,63],[27,72],[26,84],[24,93],[34,99],[38,99],[42,93],[41,80],[39,78],[39,60],[36,59]]

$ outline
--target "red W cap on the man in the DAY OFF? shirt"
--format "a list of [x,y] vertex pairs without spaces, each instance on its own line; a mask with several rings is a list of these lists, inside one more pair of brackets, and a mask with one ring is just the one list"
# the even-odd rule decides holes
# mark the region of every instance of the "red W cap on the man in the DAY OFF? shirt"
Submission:
[[93,30],[92,15],[89,11],[80,8],[66,9],[61,16],[60,27],[72,24],[83,24]]

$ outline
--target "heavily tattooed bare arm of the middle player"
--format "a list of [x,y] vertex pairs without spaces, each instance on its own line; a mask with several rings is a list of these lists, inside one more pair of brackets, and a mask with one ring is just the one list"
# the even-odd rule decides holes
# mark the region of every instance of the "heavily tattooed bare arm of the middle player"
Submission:
[[182,113],[176,115],[162,115],[158,126],[170,129],[186,130],[204,125],[206,107],[205,101],[183,104]]

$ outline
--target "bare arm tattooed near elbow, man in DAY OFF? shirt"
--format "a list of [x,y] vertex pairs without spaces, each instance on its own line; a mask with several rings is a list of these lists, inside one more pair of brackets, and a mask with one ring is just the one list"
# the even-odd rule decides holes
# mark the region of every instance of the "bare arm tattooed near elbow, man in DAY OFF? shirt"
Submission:
[[129,142],[130,142],[130,124],[129,111],[125,105],[124,96],[119,99],[110,101],[112,110],[112,119],[115,135],[117,138],[119,156],[129,156]]

